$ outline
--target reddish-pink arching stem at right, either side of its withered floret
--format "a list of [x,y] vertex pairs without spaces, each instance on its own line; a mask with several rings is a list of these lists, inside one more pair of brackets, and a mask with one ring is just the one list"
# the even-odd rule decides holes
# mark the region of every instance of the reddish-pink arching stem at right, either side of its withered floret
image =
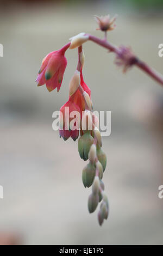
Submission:
[[[110,44],[106,40],[102,40],[99,38],[96,38],[96,36],[89,35],[89,40],[96,42],[96,44],[101,45],[102,47],[110,50],[110,52],[120,53],[118,50],[118,47]],[[137,59],[137,62],[134,63],[138,68],[140,68],[142,71],[146,72],[149,76],[151,76],[155,81],[159,82],[163,86],[163,76],[159,74],[156,70],[150,68],[146,63],[142,62],[141,60]]]

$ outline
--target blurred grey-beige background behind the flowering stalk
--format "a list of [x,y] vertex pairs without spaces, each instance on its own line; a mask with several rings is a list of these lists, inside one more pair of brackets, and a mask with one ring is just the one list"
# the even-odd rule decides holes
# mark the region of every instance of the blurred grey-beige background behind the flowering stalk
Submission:
[[[162,244],[163,90],[134,67],[128,74],[114,54],[87,42],[84,78],[95,110],[111,111],[111,136],[103,137],[108,157],[104,173],[110,215],[102,227],[89,214],[90,189],[82,184],[85,166],[78,143],[52,130],[52,113],[68,99],[77,50],[68,50],[60,92],[37,87],[41,60],[80,32],[96,31],[93,15],[118,14],[108,40],[130,45],[163,73],[163,1],[1,1],[0,199],[1,236],[26,245]],[[12,242],[10,242],[12,243]]]

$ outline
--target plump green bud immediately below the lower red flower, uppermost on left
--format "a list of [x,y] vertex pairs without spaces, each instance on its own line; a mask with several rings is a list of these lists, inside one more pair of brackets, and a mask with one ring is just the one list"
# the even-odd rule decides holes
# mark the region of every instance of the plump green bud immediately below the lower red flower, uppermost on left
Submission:
[[91,145],[93,144],[93,137],[90,134],[90,131],[87,131],[82,135],[78,140],[78,151],[80,157],[86,161],[88,159],[89,151]]

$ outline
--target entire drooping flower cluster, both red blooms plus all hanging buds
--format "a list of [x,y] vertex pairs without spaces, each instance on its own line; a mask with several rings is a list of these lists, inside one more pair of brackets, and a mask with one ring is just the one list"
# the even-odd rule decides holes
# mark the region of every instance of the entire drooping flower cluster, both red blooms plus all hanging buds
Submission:
[[102,150],[99,120],[92,113],[91,90],[83,78],[85,56],[82,45],[88,40],[88,36],[85,33],[80,33],[70,40],[70,43],[58,51],[47,54],[42,60],[36,82],[37,86],[46,84],[49,92],[55,88],[59,92],[67,65],[65,52],[68,48],[78,47],[78,65],[69,83],[68,101],[60,108],[59,135],[65,141],[70,137],[76,141],[80,136],[78,140],[79,155],[84,161],[89,160],[83,169],[83,184],[85,187],[92,186],[88,209],[90,213],[94,212],[98,203],[101,202],[98,222],[102,225],[104,219],[108,217],[109,211],[108,199],[102,181],[106,167],[106,155]]

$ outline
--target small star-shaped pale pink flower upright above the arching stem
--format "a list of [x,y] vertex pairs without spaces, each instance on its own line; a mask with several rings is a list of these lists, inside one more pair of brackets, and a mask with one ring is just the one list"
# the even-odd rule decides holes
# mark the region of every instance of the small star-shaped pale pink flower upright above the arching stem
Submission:
[[95,20],[98,23],[99,28],[96,28],[96,30],[101,30],[101,31],[111,31],[115,28],[115,20],[116,16],[114,16],[112,19],[110,19],[110,15],[106,16],[97,16],[95,15]]

